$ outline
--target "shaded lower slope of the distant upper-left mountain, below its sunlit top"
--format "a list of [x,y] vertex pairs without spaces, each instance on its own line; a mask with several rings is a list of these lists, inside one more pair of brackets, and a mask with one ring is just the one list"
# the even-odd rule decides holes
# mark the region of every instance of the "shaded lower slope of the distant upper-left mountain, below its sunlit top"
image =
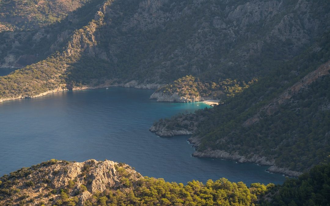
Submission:
[[[62,1],[65,4],[67,1]],[[75,1],[72,1],[74,3]],[[7,4],[15,1],[7,1]],[[17,3],[17,2],[16,2]],[[22,3],[22,2],[21,2]],[[50,3],[50,2],[48,2]],[[53,12],[65,12],[61,21],[56,21],[41,28],[16,29],[12,32],[0,33],[0,67],[21,68],[46,59],[55,51],[62,49],[68,43],[74,30],[80,29],[94,18],[98,11],[101,0],[86,2],[72,12],[52,8]],[[11,8],[11,7],[10,7]],[[4,8],[2,8],[4,9]],[[8,13],[15,13],[17,8],[13,6]],[[23,10],[24,11],[24,10]],[[21,12],[20,15],[28,14]],[[33,14],[33,13],[32,13]],[[84,15],[82,15],[84,14]],[[6,15],[7,16],[7,15]],[[11,16],[7,16],[12,18]],[[35,17],[33,15],[33,17]],[[38,21],[39,22],[39,21]],[[33,22],[26,23],[27,25]],[[39,22],[40,23],[40,22]],[[25,23],[24,23],[25,24]]]

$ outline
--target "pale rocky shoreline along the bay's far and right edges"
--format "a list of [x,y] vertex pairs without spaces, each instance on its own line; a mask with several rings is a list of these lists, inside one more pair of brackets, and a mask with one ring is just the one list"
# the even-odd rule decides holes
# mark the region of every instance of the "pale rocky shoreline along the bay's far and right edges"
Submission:
[[[127,83],[113,83],[113,81],[106,81],[104,84],[100,84],[98,86],[82,86],[82,87],[73,87],[72,90],[85,90],[85,89],[98,89],[98,88],[105,88],[105,87],[126,87],[126,88],[137,88],[137,89],[157,89],[161,87],[161,84],[139,84],[137,81],[132,80]],[[64,89],[65,88],[65,89]],[[37,95],[33,96],[17,96],[17,97],[12,97],[12,98],[4,98],[0,99],[0,103],[4,101],[10,101],[10,100],[16,100],[16,99],[24,99],[24,98],[35,98],[35,97],[41,97],[45,96],[50,93],[55,93],[55,92],[60,92],[60,91],[68,91],[64,85],[60,85],[58,88],[49,90]],[[158,99],[160,97],[160,99]],[[185,99],[184,97],[179,97],[177,94],[176,95],[171,95],[168,96],[168,99],[166,99],[166,95],[160,95],[159,92],[154,92],[151,96],[150,99],[157,99],[157,102],[161,101],[166,101],[166,102],[197,102],[197,101],[205,101],[201,99]],[[168,100],[168,101],[167,101]],[[173,100],[173,101],[171,101]],[[187,121],[187,124],[190,124],[191,121]],[[166,130],[166,126],[157,124],[157,125],[152,125],[149,129],[150,132],[156,133],[158,136],[162,137],[172,137],[174,135],[191,135],[195,133],[196,125],[194,125],[193,128],[187,128],[187,129],[178,129],[178,130]],[[194,144],[195,147],[198,147],[199,144],[199,138],[197,137],[190,137],[188,141],[191,144]],[[220,151],[220,150],[206,150],[203,152],[196,151],[192,154],[194,157],[199,157],[199,158],[221,158],[225,160],[235,160],[237,162],[243,163],[243,162],[250,162],[250,163],[256,163],[259,165],[267,165],[271,166],[270,168],[267,169],[269,172],[273,173],[281,173],[287,176],[292,176],[292,177],[297,177],[302,174],[302,172],[298,171],[292,171],[289,170],[288,168],[281,168],[278,167],[274,164],[274,161],[268,161],[265,157],[259,157],[257,155],[252,155],[251,157],[247,158],[245,156],[240,156],[238,154],[230,154],[225,151]]]

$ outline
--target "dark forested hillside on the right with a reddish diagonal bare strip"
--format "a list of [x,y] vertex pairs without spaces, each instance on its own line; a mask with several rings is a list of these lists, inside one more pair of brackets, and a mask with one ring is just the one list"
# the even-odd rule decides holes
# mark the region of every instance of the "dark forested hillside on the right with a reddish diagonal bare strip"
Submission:
[[292,171],[306,171],[330,155],[329,43],[329,34],[323,35],[240,95],[155,123],[160,131],[154,132],[193,130],[194,156],[273,165],[270,171],[297,176]]

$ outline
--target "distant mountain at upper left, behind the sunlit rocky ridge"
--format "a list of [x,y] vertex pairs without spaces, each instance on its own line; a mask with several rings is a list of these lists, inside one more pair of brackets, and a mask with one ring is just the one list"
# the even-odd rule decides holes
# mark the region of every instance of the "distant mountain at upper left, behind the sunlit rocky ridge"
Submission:
[[94,18],[100,2],[103,3],[78,0],[1,1],[0,24],[13,23],[15,26],[12,31],[3,31],[0,26],[0,67],[25,67],[62,49],[73,31]]

